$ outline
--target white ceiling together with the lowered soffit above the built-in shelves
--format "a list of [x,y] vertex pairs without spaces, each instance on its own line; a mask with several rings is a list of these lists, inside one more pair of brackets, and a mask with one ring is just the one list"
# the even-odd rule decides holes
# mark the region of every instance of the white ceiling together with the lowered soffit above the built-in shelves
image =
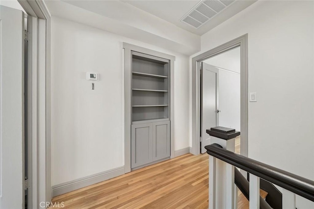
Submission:
[[[256,0],[232,0],[234,2],[230,6],[210,17],[197,28],[181,22],[187,14],[189,14],[187,17],[196,17],[192,14],[193,9],[200,12],[198,11],[200,5],[206,4],[207,7],[208,4],[218,0],[203,1],[45,0],[45,3],[52,16],[189,56],[201,50],[201,35],[256,2]],[[219,0],[219,2],[225,1],[227,0]],[[212,8],[209,7],[208,9]]]

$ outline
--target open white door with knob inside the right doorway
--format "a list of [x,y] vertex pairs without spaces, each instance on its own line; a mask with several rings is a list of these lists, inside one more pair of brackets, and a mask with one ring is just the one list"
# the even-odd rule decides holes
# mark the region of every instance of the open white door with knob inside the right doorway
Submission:
[[218,74],[217,68],[201,63],[201,153],[210,144],[206,129],[218,126]]

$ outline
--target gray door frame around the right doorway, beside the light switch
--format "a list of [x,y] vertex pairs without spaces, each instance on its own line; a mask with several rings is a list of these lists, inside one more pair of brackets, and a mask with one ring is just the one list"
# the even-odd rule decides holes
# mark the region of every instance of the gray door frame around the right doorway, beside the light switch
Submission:
[[241,155],[248,155],[248,34],[212,48],[192,58],[192,147],[193,155],[200,154],[200,64],[201,62],[240,46],[241,88]]

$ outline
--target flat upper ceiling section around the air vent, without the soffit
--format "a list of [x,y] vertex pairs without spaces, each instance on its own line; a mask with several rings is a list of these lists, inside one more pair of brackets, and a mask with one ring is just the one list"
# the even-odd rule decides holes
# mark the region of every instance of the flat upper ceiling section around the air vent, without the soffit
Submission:
[[210,29],[250,6],[256,2],[256,0],[235,0],[230,6],[226,7],[223,11],[198,28],[194,28],[180,20],[193,9],[200,0],[123,0],[123,2],[131,4],[167,22],[173,23],[191,33],[203,35]]

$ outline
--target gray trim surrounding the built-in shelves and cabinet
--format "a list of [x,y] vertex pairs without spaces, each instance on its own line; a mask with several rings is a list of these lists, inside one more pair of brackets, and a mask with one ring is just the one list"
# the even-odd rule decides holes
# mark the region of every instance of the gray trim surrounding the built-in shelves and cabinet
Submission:
[[[174,152],[174,64],[175,64],[175,56],[164,54],[161,52],[157,52],[151,49],[143,48],[140,46],[134,46],[131,44],[123,43],[124,48],[124,137],[125,137],[125,173],[131,171],[131,125],[137,124],[147,124],[147,123],[155,123],[161,121],[169,121],[169,136],[170,136],[170,158],[175,157]],[[140,70],[133,69],[132,71],[132,55],[142,57],[141,60],[150,61],[154,60],[154,62],[158,63],[168,63],[169,71],[166,74],[162,73],[149,73],[142,72]],[[132,76],[138,76],[139,79],[141,77],[150,77],[151,79],[166,79],[164,82],[169,82],[168,87],[165,88],[135,88],[132,87]],[[169,79],[169,80],[168,80]],[[168,81],[167,81],[168,80]],[[132,93],[133,92],[151,92],[151,93],[168,93],[168,101],[153,103],[153,104],[132,104]],[[138,119],[133,118],[132,121],[132,109],[135,111],[139,110],[139,108],[168,108],[168,115],[158,118],[143,118]]]

